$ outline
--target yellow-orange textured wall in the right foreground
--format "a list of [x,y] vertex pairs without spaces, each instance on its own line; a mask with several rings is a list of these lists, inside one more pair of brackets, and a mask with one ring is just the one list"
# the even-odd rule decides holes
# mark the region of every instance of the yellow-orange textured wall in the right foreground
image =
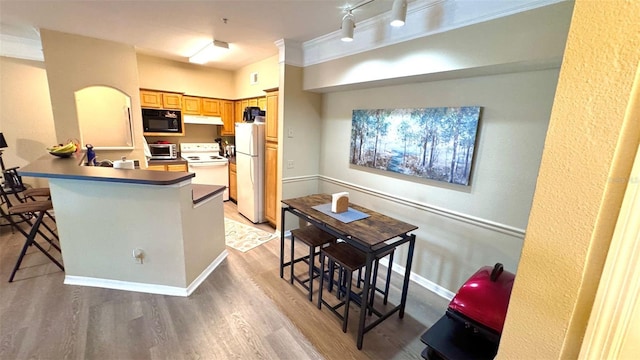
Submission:
[[640,141],[638,18],[576,1],[500,359],[578,355]]

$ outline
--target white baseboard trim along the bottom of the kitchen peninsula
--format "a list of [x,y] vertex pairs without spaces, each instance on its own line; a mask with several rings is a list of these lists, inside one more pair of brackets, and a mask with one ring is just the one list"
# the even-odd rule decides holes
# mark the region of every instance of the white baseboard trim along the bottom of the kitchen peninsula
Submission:
[[225,249],[217,258],[207,266],[207,268],[186,288],[178,286],[166,286],[156,284],[145,284],[132,281],[121,281],[112,279],[100,279],[86,276],[65,275],[64,283],[66,285],[91,286],[105,289],[136,291],[149,294],[170,295],[170,296],[189,296],[198,286],[227,258],[229,252]]

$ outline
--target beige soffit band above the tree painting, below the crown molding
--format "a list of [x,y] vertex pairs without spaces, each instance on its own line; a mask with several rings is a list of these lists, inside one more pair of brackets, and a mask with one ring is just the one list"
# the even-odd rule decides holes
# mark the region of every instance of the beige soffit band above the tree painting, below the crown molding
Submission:
[[309,66],[303,88],[372,88],[556,68],[572,5],[565,1]]

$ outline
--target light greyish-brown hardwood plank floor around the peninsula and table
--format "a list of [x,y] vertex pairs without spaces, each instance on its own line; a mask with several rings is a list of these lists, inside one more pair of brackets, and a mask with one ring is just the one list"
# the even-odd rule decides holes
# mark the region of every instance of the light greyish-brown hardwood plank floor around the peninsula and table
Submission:
[[[225,216],[250,224],[229,201]],[[279,277],[279,239],[246,253],[228,248],[187,298],[64,285],[64,274],[36,249],[9,283],[23,242],[0,227],[0,359],[420,359],[420,335],[447,306],[412,283],[404,318],[365,334],[359,351],[359,308],[351,308],[343,333],[315,296],[309,302],[302,287]],[[398,294],[400,276],[393,279]]]

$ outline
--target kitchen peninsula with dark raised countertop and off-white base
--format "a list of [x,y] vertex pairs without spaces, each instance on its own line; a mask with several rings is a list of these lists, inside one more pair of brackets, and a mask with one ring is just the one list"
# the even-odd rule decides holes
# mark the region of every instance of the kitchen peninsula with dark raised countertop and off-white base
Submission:
[[19,169],[49,181],[65,284],[188,296],[226,258],[223,186],[79,162],[47,155]]

